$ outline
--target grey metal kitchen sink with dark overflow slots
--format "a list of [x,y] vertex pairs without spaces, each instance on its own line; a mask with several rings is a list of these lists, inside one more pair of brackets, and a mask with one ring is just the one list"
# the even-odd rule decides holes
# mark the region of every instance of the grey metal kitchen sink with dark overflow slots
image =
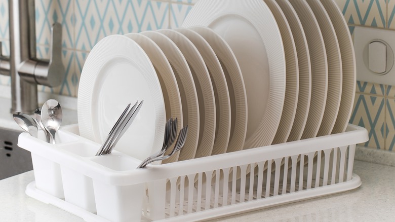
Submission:
[[0,128],[0,179],[33,169],[30,152],[17,145],[20,133]]

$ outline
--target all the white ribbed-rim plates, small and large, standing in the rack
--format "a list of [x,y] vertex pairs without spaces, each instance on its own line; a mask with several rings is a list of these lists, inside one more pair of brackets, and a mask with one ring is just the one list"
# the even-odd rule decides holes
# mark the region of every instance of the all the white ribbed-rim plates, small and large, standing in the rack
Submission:
[[333,0],[200,0],[182,28],[111,35],[89,54],[80,134],[102,143],[144,100],[115,150],[160,150],[166,119],[188,125],[168,162],[343,132],[355,92],[348,27]]

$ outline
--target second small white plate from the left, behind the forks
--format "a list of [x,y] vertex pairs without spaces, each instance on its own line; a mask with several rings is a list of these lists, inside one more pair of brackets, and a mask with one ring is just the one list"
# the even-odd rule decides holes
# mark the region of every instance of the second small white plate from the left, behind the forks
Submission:
[[[125,36],[139,44],[151,60],[152,65],[156,70],[156,75],[159,79],[159,82],[161,83],[166,108],[166,119],[169,119],[170,117],[173,119],[177,118],[178,129],[181,129],[183,119],[180,91],[178,89],[177,80],[173,69],[169,63],[169,60],[167,60],[166,55],[163,53],[161,48],[156,45],[156,43],[154,43],[145,35],[139,33],[128,33],[125,34]],[[171,151],[172,147],[168,149],[165,155],[168,155],[171,153]],[[174,158],[176,158],[178,154],[174,155]],[[171,160],[172,159],[164,161],[164,163],[167,163]]]

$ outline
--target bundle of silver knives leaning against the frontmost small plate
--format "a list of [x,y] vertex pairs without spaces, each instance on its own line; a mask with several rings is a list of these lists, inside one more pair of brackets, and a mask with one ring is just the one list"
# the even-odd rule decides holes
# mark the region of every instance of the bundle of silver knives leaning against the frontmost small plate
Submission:
[[137,101],[131,108],[129,108],[130,107],[130,103],[129,103],[129,105],[122,113],[121,117],[116,121],[116,123],[112,127],[107,138],[104,140],[104,143],[100,147],[99,151],[96,153],[96,156],[111,153],[115,144],[120,140],[120,138],[124,135],[124,133],[132,124],[133,120],[136,118],[137,113],[140,111],[141,105],[143,104],[143,101],[141,101],[138,105],[137,105],[138,103]]

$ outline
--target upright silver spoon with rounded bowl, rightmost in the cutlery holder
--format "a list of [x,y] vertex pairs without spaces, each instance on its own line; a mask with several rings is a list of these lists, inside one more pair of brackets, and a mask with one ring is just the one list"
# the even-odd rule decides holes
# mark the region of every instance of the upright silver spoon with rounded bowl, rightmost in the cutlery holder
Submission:
[[62,107],[55,99],[46,101],[41,109],[41,122],[51,136],[51,143],[55,144],[55,133],[62,123]]

